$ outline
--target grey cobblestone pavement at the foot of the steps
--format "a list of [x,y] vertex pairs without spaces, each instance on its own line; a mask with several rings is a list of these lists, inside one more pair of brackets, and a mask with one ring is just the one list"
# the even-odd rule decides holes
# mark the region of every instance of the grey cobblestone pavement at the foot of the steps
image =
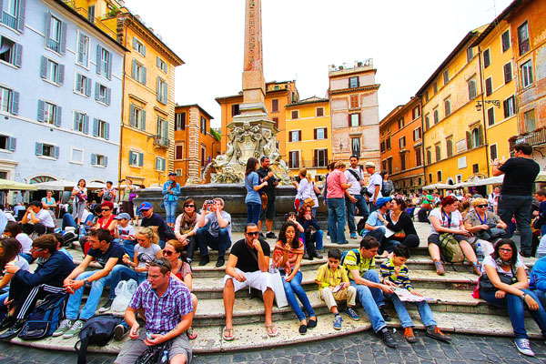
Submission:
[[[194,364],[231,363],[544,363],[546,344],[542,340],[532,340],[531,348],[535,358],[521,356],[510,338],[481,338],[470,335],[452,335],[452,344],[439,343],[425,337],[417,330],[418,342],[406,343],[397,331],[395,339],[399,349],[389,349],[379,343],[370,332],[355,334],[319,343],[301,344],[278,349],[255,350],[244,353],[197,355]],[[88,364],[113,363],[112,355],[90,354]],[[31,349],[12,344],[0,343],[0,362],[2,364],[73,364],[76,354],[59,351]]]

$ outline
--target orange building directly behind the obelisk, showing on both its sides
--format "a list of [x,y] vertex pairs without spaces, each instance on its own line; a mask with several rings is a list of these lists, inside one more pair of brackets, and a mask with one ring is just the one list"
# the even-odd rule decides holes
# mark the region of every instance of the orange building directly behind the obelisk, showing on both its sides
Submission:
[[[227,125],[233,121],[233,116],[239,114],[239,105],[243,103],[242,92],[234,96],[217,97],[217,103],[222,107],[222,153],[227,150],[227,136],[229,129]],[[271,81],[266,83],[266,100],[265,104],[268,109],[269,119],[274,121],[277,128],[277,147],[283,160],[288,160],[286,151],[286,110],[288,104],[299,101],[298,89],[296,81],[277,82]]]

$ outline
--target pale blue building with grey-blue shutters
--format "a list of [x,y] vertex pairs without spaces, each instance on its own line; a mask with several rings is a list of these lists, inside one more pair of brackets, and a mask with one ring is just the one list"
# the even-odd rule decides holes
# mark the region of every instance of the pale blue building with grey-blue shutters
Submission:
[[9,4],[0,25],[0,177],[115,181],[126,48],[62,1]]

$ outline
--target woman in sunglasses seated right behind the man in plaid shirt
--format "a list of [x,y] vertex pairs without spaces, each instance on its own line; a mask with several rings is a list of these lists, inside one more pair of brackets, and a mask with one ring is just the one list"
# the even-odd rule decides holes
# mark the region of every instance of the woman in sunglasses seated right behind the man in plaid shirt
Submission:
[[[184,282],[184,284],[191,291],[191,286],[193,283],[193,277],[191,272],[191,267],[187,262],[186,253],[183,252],[184,245],[177,239],[171,239],[165,244],[163,248],[163,256],[171,263],[171,277],[176,277],[177,279]],[[197,311],[197,296],[193,293],[191,294],[191,300],[193,302],[195,315]],[[197,333],[190,326],[187,329],[187,339],[196,339]]]

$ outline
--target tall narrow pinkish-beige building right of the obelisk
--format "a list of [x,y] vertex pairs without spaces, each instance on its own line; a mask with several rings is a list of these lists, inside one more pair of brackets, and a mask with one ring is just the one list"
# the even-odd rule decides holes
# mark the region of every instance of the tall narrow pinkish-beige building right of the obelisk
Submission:
[[357,155],[379,165],[379,85],[371,59],[329,67],[332,158]]

